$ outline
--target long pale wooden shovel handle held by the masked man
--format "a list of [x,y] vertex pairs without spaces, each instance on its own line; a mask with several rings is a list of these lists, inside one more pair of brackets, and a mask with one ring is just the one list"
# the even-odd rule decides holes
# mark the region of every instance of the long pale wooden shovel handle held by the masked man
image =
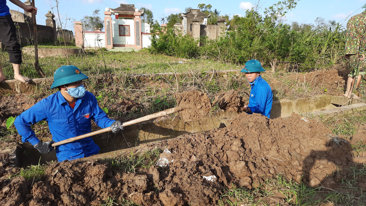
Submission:
[[[139,123],[139,122],[142,122],[142,121],[147,121],[147,120],[150,120],[150,119],[154,119],[156,117],[162,117],[162,116],[174,113],[174,112],[179,112],[182,109],[183,108],[181,108],[179,106],[177,106],[175,108],[171,108],[171,109],[165,109],[164,111],[161,111],[161,112],[153,113],[151,115],[146,115],[146,116],[143,116],[143,117],[140,117],[138,119],[131,120],[131,121],[126,121],[122,124],[122,126],[125,127],[125,126],[131,125],[131,124],[136,124],[136,123]],[[75,140],[83,139],[83,138],[86,138],[86,137],[89,137],[89,136],[93,136],[93,135],[97,135],[97,134],[101,134],[103,132],[109,132],[109,131],[111,131],[111,127],[107,127],[107,128],[97,130],[97,131],[94,131],[94,132],[90,132],[90,133],[87,133],[87,134],[83,134],[83,135],[80,135],[80,136],[75,136],[75,137],[72,137],[72,138],[68,138],[68,139],[65,139],[65,140],[60,141],[60,142],[55,142],[51,146],[55,147],[55,146],[63,145],[65,143],[74,142]]]

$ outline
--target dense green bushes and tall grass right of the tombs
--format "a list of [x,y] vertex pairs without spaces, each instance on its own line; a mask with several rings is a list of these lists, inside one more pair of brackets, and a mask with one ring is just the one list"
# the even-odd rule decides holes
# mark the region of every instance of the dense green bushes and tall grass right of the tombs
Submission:
[[317,26],[295,23],[293,27],[283,23],[286,11],[294,8],[296,2],[287,0],[274,4],[266,8],[264,16],[255,8],[248,10],[244,17],[234,16],[230,20],[230,30],[216,40],[201,38],[199,48],[191,43],[195,42],[192,37],[175,35],[168,30],[160,33],[160,38],[152,39],[149,51],[233,64],[257,59],[266,67],[274,68],[281,64],[291,71],[310,71],[339,63],[344,50],[344,27],[335,22],[330,27],[326,23],[318,23]]

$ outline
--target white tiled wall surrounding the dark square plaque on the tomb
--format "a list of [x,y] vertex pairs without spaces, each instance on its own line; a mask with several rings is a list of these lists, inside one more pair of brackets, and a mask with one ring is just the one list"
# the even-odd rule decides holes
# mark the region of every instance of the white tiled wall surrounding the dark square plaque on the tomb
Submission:
[[[135,26],[133,19],[113,19],[113,45],[135,45]],[[119,26],[118,25],[130,25],[130,36],[119,36]]]

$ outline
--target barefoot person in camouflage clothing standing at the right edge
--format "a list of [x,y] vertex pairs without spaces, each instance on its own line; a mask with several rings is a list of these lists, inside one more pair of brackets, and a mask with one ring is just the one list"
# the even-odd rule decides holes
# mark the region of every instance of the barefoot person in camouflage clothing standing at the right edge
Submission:
[[[366,8],[366,4],[362,7]],[[347,33],[346,33],[346,50],[345,56],[346,59],[350,60],[350,74],[348,74],[347,80],[347,91],[344,94],[345,97],[351,98],[352,88],[355,81],[356,70],[358,67],[358,63],[360,63],[360,70],[358,73],[358,79],[356,86],[358,87],[362,76],[364,76],[366,61],[366,11],[363,11],[361,14],[357,14],[352,16],[347,23]],[[354,98],[358,98],[356,95]]]

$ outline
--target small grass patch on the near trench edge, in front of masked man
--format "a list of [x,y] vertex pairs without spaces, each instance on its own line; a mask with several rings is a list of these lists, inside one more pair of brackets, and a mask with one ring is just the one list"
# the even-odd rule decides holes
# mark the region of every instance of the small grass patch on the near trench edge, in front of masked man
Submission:
[[121,156],[116,158],[105,159],[108,162],[108,166],[121,172],[139,172],[141,168],[150,168],[150,166],[156,164],[159,159],[161,150],[154,149],[152,151],[146,151],[143,154],[133,154],[131,151],[130,156]]

